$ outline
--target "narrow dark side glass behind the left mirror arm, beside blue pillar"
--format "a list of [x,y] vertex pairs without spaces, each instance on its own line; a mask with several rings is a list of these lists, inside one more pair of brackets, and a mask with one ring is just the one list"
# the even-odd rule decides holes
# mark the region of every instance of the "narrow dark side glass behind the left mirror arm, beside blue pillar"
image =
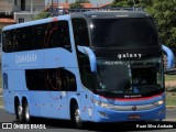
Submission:
[[[90,46],[86,20],[73,19],[72,21],[73,21],[76,48],[77,48],[77,45]],[[88,89],[92,89],[94,88],[94,77],[90,70],[90,63],[89,63],[88,56],[80,53],[77,50],[77,58],[78,58],[78,64],[79,64],[81,82]]]

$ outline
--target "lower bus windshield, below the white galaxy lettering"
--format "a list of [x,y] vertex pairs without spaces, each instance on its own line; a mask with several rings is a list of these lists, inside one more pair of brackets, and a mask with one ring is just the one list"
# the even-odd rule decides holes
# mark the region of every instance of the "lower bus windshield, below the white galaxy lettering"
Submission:
[[162,58],[143,61],[98,59],[99,94],[145,95],[164,88]]

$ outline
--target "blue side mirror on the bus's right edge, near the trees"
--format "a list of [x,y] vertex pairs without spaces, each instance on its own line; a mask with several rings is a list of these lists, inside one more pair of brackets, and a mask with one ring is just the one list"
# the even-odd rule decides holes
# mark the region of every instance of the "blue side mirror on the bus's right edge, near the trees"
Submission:
[[174,67],[174,54],[173,54],[172,50],[165,45],[162,45],[162,48],[167,55],[167,69],[170,69]]

